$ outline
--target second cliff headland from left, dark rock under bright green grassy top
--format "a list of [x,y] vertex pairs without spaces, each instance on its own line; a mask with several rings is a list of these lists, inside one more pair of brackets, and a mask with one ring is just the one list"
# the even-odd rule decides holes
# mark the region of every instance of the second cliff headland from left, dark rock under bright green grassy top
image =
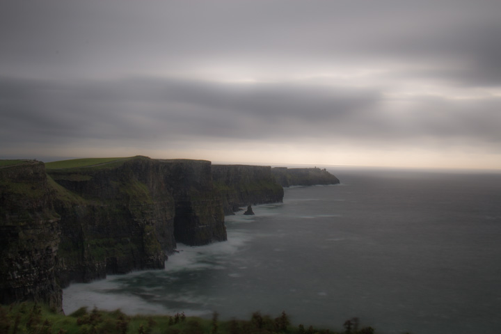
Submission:
[[59,191],[58,278],[90,282],[108,273],[164,268],[175,248],[175,202],[161,164],[136,157],[118,166],[47,170]]

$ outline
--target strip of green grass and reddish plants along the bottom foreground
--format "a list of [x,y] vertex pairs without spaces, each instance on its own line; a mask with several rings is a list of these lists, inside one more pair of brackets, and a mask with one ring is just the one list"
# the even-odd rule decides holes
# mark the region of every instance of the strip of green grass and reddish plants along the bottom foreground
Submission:
[[358,328],[358,319],[344,323],[344,331],[292,326],[285,312],[276,318],[253,313],[248,321],[219,321],[185,317],[184,313],[164,316],[136,315],[130,317],[113,312],[80,308],[71,315],[62,315],[45,305],[16,303],[0,305],[0,333],[2,334],[374,334],[371,327]]

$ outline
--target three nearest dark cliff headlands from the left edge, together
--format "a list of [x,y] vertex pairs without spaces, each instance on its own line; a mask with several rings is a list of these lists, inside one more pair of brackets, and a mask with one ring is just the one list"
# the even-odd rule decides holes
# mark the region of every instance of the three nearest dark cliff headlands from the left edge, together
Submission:
[[226,239],[210,161],[81,160],[0,164],[1,303],[61,307],[72,281],[164,268],[176,242]]

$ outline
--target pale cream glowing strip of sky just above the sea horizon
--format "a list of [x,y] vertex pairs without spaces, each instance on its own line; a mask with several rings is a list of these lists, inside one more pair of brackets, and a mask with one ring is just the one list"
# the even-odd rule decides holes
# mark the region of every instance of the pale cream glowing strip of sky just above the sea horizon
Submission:
[[[437,170],[501,170],[499,168],[501,155],[468,153],[458,154],[449,152],[447,154],[437,152],[427,152],[415,150],[413,152],[383,152],[383,151],[348,151],[334,150],[333,152],[309,152],[308,154],[294,153],[292,148],[283,152],[272,154],[262,154],[257,150],[246,148],[244,150],[235,148],[224,154],[217,151],[192,149],[186,152],[169,150],[116,150],[106,149],[96,150],[85,148],[79,150],[81,155],[72,155],[72,150],[54,150],[52,154],[45,158],[40,158],[37,154],[26,157],[11,155],[18,159],[38,159],[44,162],[99,158],[99,157],[134,157],[143,155],[152,159],[194,159],[212,161],[212,164],[248,164],[266,166],[352,166],[352,167],[374,167],[374,168],[402,168],[402,169],[437,169]],[[272,152],[268,150],[267,152]],[[301,151],[299,151],[301,152]],[[406,154],[407,153],[407,154]],[[407,159],[400,160],[400,157],[407,155]],[[482,164],[475,161],[475,157],[482,158]],[[486,159],[487,157],[487,159]],[[3,157],[2,157],[3,159]],[[349,161],[349,163],[347,163]],[[479,160],[480,161],[480,160]],[[460,167],[458,167],[460,166]]]

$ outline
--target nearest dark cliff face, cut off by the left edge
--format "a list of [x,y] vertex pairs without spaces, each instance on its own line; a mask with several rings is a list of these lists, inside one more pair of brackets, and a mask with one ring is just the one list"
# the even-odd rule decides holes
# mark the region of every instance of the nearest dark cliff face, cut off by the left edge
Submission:
[[34,299],[61,309],[61,231],[41,162],[0,167],[0,303]]

